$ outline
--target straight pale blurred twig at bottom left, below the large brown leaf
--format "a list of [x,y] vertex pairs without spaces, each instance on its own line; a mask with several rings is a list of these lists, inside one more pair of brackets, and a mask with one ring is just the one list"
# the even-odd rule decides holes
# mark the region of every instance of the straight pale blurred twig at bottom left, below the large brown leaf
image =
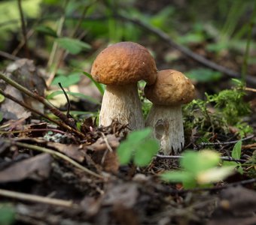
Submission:
[[0,195],[5,197],[10,197],[13,199],[20,199],[20,200],[25,200],[29,202],[40,202],[40,203],[49,204],[49,205],[58,205],[63,207],[75,206],[74,202],[72,201],[66,201],[62,199],[53,199],[49,197],[38,196],[34,194],[29,194],[29,193],[20,193],[20,192],[11,191],[11,190],[0,189]]

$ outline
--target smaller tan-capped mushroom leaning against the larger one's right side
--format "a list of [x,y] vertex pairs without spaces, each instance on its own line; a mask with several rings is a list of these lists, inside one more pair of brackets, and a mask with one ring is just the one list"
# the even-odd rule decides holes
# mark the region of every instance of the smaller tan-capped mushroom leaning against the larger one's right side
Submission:
[[153,103],[146,126],[153,127],[163,154],[178,154],[184,147],[181,104],[192,101],[194,95],[190,80],[173,70],[159,71],[154,85],[145,86],[145,96]]

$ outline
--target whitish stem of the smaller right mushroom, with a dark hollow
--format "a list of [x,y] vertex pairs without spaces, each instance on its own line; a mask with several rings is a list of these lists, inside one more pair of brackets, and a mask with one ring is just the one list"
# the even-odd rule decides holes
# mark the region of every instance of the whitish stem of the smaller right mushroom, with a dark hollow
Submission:
[[184,147],[181,106],[153,105],[146,126],[153,127],[154,137],[159,140],[163,154],[178,154]]

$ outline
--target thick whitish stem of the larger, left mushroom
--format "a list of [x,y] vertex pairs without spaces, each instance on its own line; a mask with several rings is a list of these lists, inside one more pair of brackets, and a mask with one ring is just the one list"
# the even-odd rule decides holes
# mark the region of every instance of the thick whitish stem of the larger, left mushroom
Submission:
[[137,84],[106,86],[99,113],[99,125],[108,126],[113,120],[129,124],[131,130],[145,127]]

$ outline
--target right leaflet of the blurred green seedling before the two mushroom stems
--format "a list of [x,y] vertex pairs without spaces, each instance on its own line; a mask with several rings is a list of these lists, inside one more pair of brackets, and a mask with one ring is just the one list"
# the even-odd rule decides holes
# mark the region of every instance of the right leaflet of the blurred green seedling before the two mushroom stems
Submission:
[[137,166],[147,166],[151,162],[152,157],[157,154],[159,145],[156,139],[147,139],[137,146],[133,162]]

